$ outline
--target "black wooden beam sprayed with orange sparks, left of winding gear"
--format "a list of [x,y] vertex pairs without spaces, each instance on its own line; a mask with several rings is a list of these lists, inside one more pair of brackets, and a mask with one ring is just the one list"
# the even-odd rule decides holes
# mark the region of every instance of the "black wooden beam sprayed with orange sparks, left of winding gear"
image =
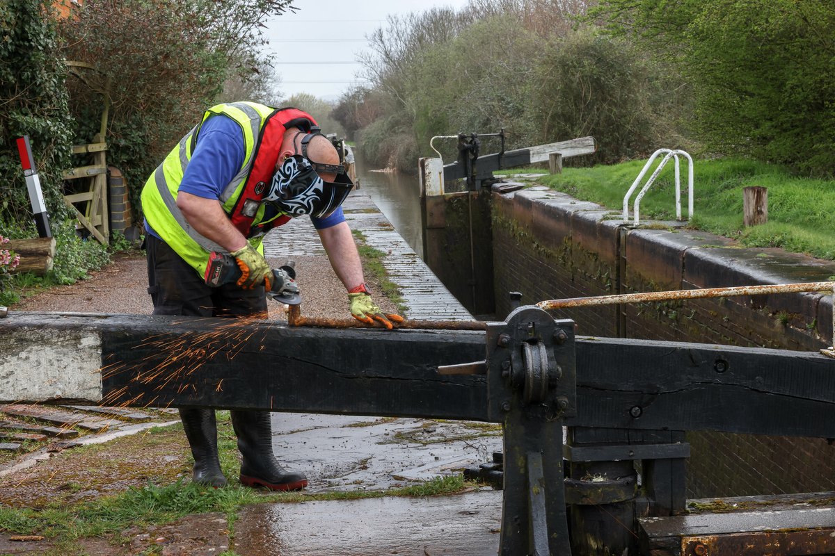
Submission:
[[[24,342],[34,329],[98,335],[100,369],[68,365],[56,372],[64,378],[100,372],[103,396],[93,401],[104,405],[488,420],[486,377],[437,370],[483,359],[483,332],[291,328],[142,315],[11,313],[0,319],[7,340]],[[51,348],[38,338],[39,350]],[[20,367],[19,380],[30,380]]]

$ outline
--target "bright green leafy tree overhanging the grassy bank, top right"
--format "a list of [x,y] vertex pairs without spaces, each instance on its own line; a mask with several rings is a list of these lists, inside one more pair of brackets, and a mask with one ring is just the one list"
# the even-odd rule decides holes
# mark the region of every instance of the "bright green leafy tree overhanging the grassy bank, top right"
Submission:
[[711,148],[835,174],[830,0],[604,0],[593,17],[675,64]]

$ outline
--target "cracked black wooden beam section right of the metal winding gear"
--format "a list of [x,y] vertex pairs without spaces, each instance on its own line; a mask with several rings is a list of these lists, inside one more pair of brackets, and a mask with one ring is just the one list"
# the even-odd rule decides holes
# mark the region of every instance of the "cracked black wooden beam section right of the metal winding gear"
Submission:
[[579,338],[568,425],[835,438],[835,359],[820,353]]

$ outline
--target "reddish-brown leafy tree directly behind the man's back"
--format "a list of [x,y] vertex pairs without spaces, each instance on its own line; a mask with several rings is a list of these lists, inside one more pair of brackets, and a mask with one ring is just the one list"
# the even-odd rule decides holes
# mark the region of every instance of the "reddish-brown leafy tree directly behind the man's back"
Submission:
[[[134,207],[142,183],[224,84],[257,75],[262,22],[288,9],[291,0],[87,0],[63,20],[66,58],[109,79],[109,161],[132,185]],[[89,141],[103,98],[70,85],[77,139]]]

